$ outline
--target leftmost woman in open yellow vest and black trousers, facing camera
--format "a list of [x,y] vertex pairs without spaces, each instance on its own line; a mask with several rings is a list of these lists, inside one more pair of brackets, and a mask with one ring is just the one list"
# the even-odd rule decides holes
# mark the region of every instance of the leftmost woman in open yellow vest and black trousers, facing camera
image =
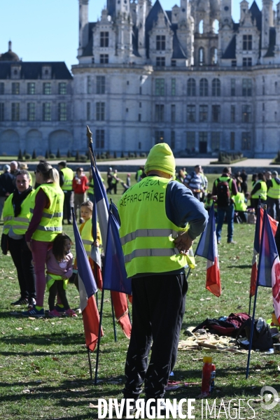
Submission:
[[15,177],[15,192],[10,194],[3,207],[3,235],[7,235],[8,251],[13,258],[20,284],[20,299],[14,306],[36,303],[35,274],[31,263],[32,254],[25,241],[29,225],[30,203],[34,190],[30,185],[29,173],[21,170]]

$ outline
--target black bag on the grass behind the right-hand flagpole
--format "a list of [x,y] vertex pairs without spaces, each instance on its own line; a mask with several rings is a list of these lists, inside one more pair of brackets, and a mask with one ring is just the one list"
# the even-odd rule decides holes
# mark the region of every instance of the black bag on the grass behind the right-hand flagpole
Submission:
[[[260,319],[260,318],[259,318]],[[252,340],[252,349],[253,350],[260,350],[260,351],[267,351],[268,349],[272,349],[273,341],[272,335],[270,332],[269,325],[262,320],[262,328],[260,331],[257,330],[256,326],[258,323],[258,319],[255,319],[253,325],[253,340]],[[251,325],[252,325],[252,318],[248,318],[237,332],[237,344],[242,347],[242,349],[248,349],[248,344],[241,343],[241,337],[246,337],[248,341],[250,341],[251,335]]]

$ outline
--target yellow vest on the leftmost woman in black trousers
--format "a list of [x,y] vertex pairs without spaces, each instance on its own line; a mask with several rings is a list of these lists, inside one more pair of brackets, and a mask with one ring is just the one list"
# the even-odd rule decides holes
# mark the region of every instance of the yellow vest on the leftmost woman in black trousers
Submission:
[[15,217],[13,209],[13,194],[10,194],[4,203],[3,207],[3,233],[8,234],[10,228],[12,228],[15,235],[25,235],[29,226],[30,219],[30,203],[35,191],[32,190],[29,195],[23,200],[21,204],[20,214]]

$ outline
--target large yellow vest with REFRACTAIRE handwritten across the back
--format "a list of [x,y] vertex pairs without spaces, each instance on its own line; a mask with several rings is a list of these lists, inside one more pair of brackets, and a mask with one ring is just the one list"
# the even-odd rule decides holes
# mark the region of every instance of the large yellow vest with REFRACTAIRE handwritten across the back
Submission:
[[127,276],[161,273],[195,267],[193,250],[181,255],[174,238],[188,228],[179,228],[167,218],[165,195],[169,179],[149,176],[135,184],[118,202],[120,242]]

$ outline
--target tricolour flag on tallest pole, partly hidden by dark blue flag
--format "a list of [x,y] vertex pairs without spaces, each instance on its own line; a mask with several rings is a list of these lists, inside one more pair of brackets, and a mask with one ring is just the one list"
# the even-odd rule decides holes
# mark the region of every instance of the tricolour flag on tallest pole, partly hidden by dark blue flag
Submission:
[[[94,158],[92,144],[90,144],[90,149],[92,151],[92,155],[90,156],[92,160],[92,156]],[[102,236],[102,243],[104,246],[104,250],[106,251],[106,241],[107,241],[107,232],[108,232],[108,223],[109,223],[109,202],[106,196],[104,185],[102,183],[102,179],[99,175],[96,165],[95,166],[93,165],[93,162],[91,162],[91,167],[92,167],[92,178],[94,182],[94,197],[96,200],[97,216],[98,216],[100,232]],[[120,258],[123,258],[123,251]],[[116,268],[117,267],[115,267],[115,269]],[[113,272],[113,275],[116,275],[116,272]],[[117,321],[120,324],[120,327],[122,328],[126,337],[130,337],[131,323],[130,323],[130,317],[128,316],[127,297],[124,293],[120,293],[119,291],[118,292],[111,291],[111,298],[113,300],[113,307],[114,307]]]

